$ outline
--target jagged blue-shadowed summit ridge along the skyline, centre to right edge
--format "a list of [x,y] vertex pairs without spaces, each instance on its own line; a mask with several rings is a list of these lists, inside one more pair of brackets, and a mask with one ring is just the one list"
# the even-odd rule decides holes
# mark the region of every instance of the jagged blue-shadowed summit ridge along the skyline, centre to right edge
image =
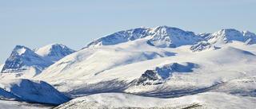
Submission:
[[199,33],[184,31],[166,25],[156,28],[141,27],[136,29],[122,30],[111,33],[105,37],[91,41],[84,48],[94,48],[102,45],[118,45],[127,41],[147,39],[147,43],[159,48],[176,48],[182,45],[193,45],[198,39],[213,43],[230,43],[232,41],[242,41],[244,45],[256,44],[256,35],[249,31],[238,31],[236,29],[222,29],[215,33]]

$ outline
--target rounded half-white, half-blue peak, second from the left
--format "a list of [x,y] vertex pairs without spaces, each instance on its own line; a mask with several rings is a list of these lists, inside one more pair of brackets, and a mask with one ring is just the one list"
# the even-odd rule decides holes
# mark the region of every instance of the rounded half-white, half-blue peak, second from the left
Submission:
[[40,49],[34,50],[34,53],[37,53],[39,56],[48,58],[52,61],[60,60],[62,59],[62,57],[67,56],[74,52],[76,51],[62,44],[46,45]]

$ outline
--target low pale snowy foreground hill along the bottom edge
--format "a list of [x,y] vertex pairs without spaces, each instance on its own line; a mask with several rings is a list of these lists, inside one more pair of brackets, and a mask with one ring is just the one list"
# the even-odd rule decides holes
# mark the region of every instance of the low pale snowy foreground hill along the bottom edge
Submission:
[[103,93],[72,99],[55,109],[70,108],[248,108],[256,107],[256,99],[206,92],[179,98],[159,99],[122,93]]

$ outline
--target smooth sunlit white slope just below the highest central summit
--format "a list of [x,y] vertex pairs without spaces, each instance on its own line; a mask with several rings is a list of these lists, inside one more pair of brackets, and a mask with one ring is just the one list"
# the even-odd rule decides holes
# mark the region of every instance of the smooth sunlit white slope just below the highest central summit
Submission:
[[[119,45],[82,49],[46,68],[35,79],[59,80],[60,77],[63,77],[63,80],[86,79],[117,66],[164,56],[174,56],[175,54],[148,45],[146,41],[145,39],[140,39]],[[60,74],[60,72],[63,73]],[[70,73],[73,75],[70,76]]]

